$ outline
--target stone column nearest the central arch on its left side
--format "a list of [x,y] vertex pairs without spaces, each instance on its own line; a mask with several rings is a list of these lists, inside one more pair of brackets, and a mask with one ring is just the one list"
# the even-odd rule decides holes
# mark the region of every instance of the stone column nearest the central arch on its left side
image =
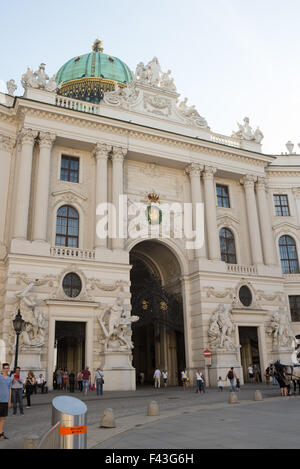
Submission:
[[[120,147],[113,147],[112,149],[112,203],[116,210],[116,230],[115,236],[112,240],[112,248],[117,250],[124,249],[124,238],[122,235],[123,218],[120,207],[120,195],[124,194],[124,157],[127,150]],[[113,222],[114,223],[114,222]],[[114,235],[114,234],[113,234]]]

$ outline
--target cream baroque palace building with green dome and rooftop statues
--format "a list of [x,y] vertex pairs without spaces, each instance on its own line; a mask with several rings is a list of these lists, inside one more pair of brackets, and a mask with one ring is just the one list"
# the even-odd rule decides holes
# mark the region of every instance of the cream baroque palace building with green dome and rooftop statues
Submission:
[[[140,373],[151,382],[156,367],[171,384],[200,368],[215,385],[229,366],[243,382],[249,364],[264,379],[270,362],[290,363],[293,149],[264,154],[248,118],[231,137],[214,133],[156,58],[133,74],[98,40],[52,78],[28,68],[22,85],[24,96],[13,80],[0,94],[0,360],[14,361],[20,308],[19,364],[50,383],[57,367],[88,365],[104,368],[108,390],[135,389]],[[162,236],[167,206],[183,207],[204,242],[179,236],[173,212]]]

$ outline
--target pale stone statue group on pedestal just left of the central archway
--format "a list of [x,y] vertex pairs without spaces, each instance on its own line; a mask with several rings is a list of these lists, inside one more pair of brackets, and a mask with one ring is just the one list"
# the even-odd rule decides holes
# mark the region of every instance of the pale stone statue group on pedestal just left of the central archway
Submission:
[[130,316],[130,312],[126,311],[122,298],[117,298],[111,307],[103,310],[98,321],[104,334],[104,339],[101,340],[104,351],[131,351],[131,324],[138,320],[138,316]]

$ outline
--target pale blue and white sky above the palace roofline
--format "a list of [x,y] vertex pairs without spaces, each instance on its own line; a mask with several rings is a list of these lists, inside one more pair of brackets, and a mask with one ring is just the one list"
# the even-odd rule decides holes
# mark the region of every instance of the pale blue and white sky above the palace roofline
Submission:
[[2,2],[0,80],[19,84],[41,62],[53,75],[100,37],[132,70],[157,56],[213,131],[249,116],[263,150],[280,153],[300,142],[299,18],[299,0]]

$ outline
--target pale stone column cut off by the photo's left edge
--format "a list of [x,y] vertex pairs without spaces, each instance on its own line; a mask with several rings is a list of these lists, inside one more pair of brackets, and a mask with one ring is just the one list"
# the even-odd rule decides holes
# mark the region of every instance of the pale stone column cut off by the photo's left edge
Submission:
[[1,251],[4,250],[5,221],[13,145],[14,141],[11,137],[0,135],[0,258],[2,257]]

